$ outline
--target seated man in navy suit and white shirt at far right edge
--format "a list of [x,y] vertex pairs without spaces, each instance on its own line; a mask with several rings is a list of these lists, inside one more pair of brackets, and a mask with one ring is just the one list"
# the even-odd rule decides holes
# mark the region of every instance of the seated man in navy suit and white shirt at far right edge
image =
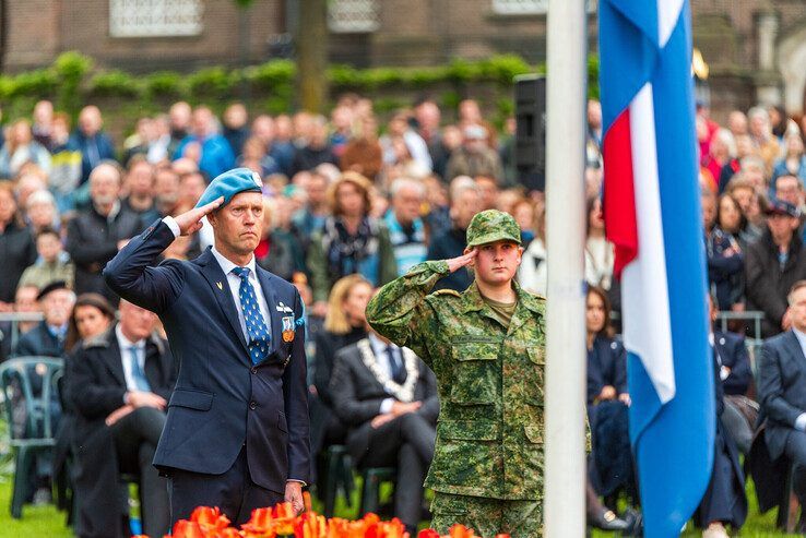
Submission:
[[[771,461],[785,455],[793,465],[794,490],[806,505],[806,280],[789,295],[792,328],[764,342],[758,369],[760,421]],[[801,516],[799,531],[806,531]]]

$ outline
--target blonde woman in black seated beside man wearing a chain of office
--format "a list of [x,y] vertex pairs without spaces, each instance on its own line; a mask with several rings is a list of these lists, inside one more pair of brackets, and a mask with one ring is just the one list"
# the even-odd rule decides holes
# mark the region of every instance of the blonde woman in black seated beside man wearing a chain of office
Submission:
[[339,279],[328,298],[324,330],[316,334],[313,386],[310,398],[311,454],[319,454],[332,444],[343,444],[347,429],[333,413],[330,375],[335,354],[343,347],[367,337],[365,310],[372,296],[372,286],[361,275]]

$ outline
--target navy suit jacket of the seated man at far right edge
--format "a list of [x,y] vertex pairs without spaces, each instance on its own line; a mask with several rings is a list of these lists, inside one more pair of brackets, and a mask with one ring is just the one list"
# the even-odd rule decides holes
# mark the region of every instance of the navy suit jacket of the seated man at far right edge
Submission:
[[758,420],[767,425],[764,439],[774,461],[783,454],[795,419],[806,413],[806,357],[792,330],[769,338],[761,347],[758,399]]

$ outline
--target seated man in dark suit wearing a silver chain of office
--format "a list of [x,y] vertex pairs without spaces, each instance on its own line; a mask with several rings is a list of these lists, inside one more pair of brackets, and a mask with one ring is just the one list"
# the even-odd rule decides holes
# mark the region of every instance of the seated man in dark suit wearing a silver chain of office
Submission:
[[394,515],[414,536],[437,437],[434,372],[411,349],[369,332],[336,354],[330,386],[353,462],[398,468]]

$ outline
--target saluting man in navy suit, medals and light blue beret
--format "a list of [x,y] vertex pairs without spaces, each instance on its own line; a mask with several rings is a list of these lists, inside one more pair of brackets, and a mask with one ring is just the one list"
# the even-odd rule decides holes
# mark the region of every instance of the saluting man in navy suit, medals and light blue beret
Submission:
[[[150,267],[208,216],[215,244],[191,262]],[[260,177],[215,178],[195,208],[132,239],[104,276],[156,312],[180,362],[154,464],[169,479],[171,519],[220,506],[233,523],[284,499],[303,509],[310,473],[304,307],[289,283],[254,263]]]

